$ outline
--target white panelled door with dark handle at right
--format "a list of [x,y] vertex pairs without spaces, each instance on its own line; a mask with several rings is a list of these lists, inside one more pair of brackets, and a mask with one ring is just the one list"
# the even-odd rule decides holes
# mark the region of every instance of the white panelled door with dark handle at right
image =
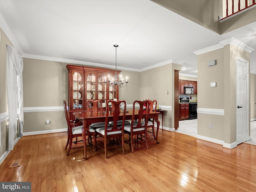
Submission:
[[236,144],[248,140],[248,61],[236,58]]

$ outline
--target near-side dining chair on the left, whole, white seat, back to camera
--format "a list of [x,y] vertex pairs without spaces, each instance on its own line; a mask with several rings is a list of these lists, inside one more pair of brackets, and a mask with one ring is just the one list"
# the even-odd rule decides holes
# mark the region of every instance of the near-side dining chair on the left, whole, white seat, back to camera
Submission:
[[[114,106],[114,110],[109,110],[110,105],[108,103],[112,102],[112,106]],[[124,112],[120,111],[120,103],[124,102]],[[105,150],[105,156],[108,158],[108,148],[114,148],[121,146],[124,152],[124,122],[126,115],[126,102],[122,101],[112,101],[108,100],[106,104],[106,120],[105,126],[101,128],[97,128],[95,130],[95,138],[94,138],[94,150],[96,151],[97,146]],[[120,118],[120,113],[122,113],[122,125],[118,126],[118,119]],[[108,126],[108,122],[110,120],[113,121],[112,126]],[[97,144],[97,136],[100,136],[104,140],[104,146]],[[113,141],[110,139],[113,138]],[[114,140],[116,138],[116,140]],[[121,138],[121,141],[118,141],[118,138]],[[109,141],[109,142],[108,142]]]

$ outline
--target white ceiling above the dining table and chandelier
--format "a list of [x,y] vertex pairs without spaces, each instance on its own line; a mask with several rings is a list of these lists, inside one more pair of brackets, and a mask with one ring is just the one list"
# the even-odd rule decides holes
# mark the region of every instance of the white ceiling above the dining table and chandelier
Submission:
[[219,35],[149,0],[0,0],[0,27],[26,58],[114,68],[118,44],[120,70],[174,62],[196,76],[195,51],[232,37],[256,50],[256,22]]

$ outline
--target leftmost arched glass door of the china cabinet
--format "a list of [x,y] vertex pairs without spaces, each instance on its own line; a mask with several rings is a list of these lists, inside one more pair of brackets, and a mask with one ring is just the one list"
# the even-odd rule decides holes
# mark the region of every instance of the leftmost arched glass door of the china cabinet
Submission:
[[70,106],[72,109],[82,109],[83,108],[83,93],[84,93],[84,88],[83,88],[83,78],[84,72],[83,71],[77,71],[77,70],[72,70],[72,81],[71,81],[71,98],[73,105]]

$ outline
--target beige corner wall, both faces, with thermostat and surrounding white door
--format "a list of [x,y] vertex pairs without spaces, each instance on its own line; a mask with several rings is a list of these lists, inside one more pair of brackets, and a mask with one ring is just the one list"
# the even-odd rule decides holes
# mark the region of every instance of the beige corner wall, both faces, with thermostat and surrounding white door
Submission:
[[[198,135],[226,144],[236,142],[236,57],[250,61],[249,53],[230,44],[197,56],[198,108],[224,109],[224,116],[198,113]],[[208,66],[210,60],[217,64]]]

